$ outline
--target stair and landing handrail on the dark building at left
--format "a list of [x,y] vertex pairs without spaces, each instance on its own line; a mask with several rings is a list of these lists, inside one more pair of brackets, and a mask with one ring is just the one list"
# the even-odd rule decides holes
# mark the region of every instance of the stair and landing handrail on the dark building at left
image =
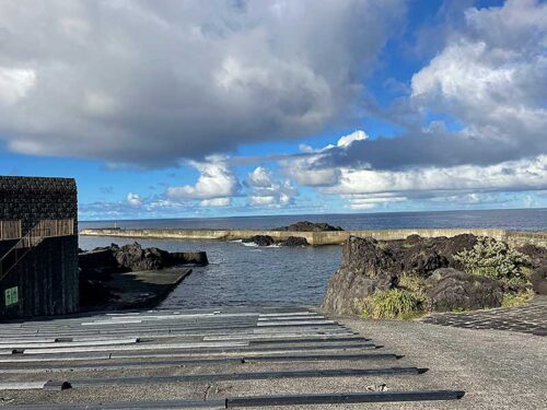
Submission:
[[74,220],[43,220],[28,231],[13,247],[0,258],[0,281],[24,258],[32,248],[47,237],[74,234]]

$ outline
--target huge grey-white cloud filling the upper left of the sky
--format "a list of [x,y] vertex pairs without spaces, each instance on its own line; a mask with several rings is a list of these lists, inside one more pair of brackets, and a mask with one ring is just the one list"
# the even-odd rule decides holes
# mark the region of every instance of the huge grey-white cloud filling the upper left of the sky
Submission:
[[116,164],[201,161],[342,120],[403,0],[0,3],[0,138]]

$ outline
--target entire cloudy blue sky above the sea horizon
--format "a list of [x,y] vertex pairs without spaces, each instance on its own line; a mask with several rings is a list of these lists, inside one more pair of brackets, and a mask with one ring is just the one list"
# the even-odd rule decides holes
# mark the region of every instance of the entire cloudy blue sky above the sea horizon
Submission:
[[83,220],[545,208],[546,130],[546,1],[0,2],[0,175]]

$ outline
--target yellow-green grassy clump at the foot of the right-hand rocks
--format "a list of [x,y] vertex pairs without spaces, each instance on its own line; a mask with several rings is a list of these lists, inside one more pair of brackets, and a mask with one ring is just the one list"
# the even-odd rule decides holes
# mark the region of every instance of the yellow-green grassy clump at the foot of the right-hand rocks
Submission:
[[422,302],[419,295],[404,289],[377,290],[361,300],[358,308],[365,318],[409,319],[421,313]]

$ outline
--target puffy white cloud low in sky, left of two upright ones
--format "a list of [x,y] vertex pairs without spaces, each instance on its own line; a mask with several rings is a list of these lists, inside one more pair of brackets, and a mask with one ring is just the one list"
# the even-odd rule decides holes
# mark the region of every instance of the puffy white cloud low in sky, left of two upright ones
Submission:
[[224,156],[208,156],[206,162],[190,162],[200,175],[195,185],[168,187],[172,200],[200,199],[203,207],[226,207],[240,189],[240,183]]

